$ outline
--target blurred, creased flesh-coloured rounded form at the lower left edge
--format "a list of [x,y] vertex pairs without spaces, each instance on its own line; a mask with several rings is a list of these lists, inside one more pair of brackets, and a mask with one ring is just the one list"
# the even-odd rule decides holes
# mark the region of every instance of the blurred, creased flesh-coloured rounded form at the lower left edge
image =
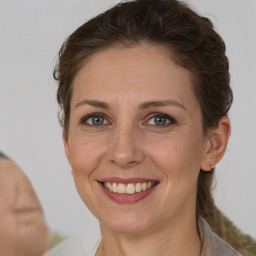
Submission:
[[11,160],[0,159],[0,255],[42,256],[49,231],[34,189]]

